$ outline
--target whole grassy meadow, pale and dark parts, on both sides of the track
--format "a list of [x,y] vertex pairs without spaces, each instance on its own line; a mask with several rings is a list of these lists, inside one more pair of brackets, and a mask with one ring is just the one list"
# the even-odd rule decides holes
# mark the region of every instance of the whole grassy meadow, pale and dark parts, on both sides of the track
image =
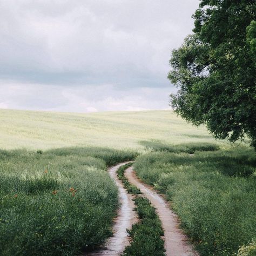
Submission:
[[0,124],[0,255],[102,245],[119,207],[106,170],[127,160],[171,201],[201,255],[255,255],[256,158],[247,141],[215,140],[167,110],[0,110]]

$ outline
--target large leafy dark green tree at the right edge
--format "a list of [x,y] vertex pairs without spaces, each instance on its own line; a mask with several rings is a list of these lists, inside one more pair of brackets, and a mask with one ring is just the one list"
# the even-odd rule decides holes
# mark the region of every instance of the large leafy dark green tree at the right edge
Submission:
[[194,33],[172,51],[171,105],[215,137],[247,134],[256,148],[255,0],[201,0],[193,18]]

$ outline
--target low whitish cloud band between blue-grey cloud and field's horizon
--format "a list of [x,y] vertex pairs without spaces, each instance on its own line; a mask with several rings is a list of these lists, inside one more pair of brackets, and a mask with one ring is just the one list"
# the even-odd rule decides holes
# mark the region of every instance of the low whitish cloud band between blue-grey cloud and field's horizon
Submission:
[[120,90],[113,85],[67,87],[1,80],[0,90],[0,107],[67,112],[166,109],[171,91],[166,87]]

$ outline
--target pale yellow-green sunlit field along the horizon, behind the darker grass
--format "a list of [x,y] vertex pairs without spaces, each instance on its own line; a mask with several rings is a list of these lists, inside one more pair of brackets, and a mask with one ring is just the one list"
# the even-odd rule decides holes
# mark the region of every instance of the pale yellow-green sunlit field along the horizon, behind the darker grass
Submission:
[[0,124],[0,149],[142,149],[142,140],[217,142],[204,126],[192,126],[170,110],[83,114],[1,109]]

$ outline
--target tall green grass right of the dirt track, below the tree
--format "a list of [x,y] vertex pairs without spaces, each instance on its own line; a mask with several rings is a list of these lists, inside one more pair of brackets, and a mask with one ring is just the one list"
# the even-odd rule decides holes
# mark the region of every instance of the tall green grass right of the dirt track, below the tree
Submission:
[[171,200],[200,255],[234,255],[256,238],[256,160],[249,147],[193,156],[157,151],[133,166]]

